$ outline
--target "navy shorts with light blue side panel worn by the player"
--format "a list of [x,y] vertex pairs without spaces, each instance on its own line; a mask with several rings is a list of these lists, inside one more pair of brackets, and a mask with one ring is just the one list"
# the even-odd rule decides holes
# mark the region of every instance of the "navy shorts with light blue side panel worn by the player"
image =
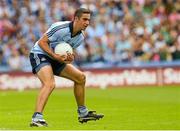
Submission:
[[41,67],[45,65],[51,65],[54,75],[59,76],[61,71],[66,66],[65,63],[60,63],[43,54],[30,53],[29,58],[32,66],[32,72],[34,74],[36,74],[41,69]]

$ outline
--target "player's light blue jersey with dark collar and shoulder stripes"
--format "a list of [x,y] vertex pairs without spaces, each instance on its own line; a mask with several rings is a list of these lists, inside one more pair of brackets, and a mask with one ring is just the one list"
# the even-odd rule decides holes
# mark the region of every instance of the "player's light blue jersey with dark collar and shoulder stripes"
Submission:
[[[64,21],[64,22],[56,22],[51,25],[51,27],[47,30],[46,35],[49,39],[49,46],[54,51],[54,48],[57,44],[62,41],[71,45],[73,49],[77,48],[80,44],[84,43],[84,35],[80,31],[75,36],[72,36],[73,32],[73,22]],[[45,51],[41,49],[38,44],[38,41],[33,46],[31,53],[36,54],[44,54],[48,55]],[[49,55],[48,55],[49,56]]]

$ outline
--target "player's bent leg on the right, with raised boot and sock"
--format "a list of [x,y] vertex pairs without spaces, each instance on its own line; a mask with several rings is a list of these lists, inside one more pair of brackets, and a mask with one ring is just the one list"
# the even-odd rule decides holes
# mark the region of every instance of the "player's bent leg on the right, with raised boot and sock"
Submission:
[[98,115],[93,111],[88,112],[88,109],[85,106],[86,77],[83,72],[75,68],[73,65],[67,64],[62,70],[60,76],[74,81],[74,95],[78,106],[79,122],[83,123],[89,120],[97,120],[104,116]]

